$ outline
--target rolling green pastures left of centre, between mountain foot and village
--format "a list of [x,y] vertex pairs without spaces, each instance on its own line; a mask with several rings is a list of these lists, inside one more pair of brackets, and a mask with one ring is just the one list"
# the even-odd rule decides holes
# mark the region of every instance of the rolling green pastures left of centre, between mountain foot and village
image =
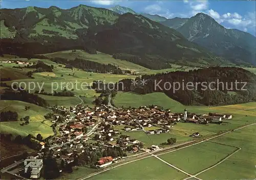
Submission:
[[[2,58],[0,58],[1,60]],[[9,60],[14,60],[15,58],[11,58]],[[3,60],[6,60],[6,58],[3,58]],[[23,59],[25,60],[25,59]],[[36,84],[35,88],[31,90],[31,93],[34,93],[36,90],[39,91],[39,86],[42,86],[42,88],[45,90],[47,93],[52,92],[52,87],[53,91],[55,90],[56,92],[60,92],[63,90],[65,86],[67,86],[67,83],[70,83],[70,86],[67,86],[69,91],[71,91],[72,88],[74,88],[74,91],[72,91],[76,96],[86,96],[86,97],[81,97],[83,99],[83,103],[85,105],[90,105],[92,106],[92,102],[94,101],[95,96],[99,96],[99,94],[95,93],[93,89],[90,89],[90,87],[86,86],[81,86],[82,83],[90,86],[91,83],[94,80],[102,80],[104,82],[118,82],[121,79],[125,78],[135,78],[136,76],[131,76],[131,75],[115,75],[115,74],[99,74],[99,73],[90,73],[90,72],[85,72],[81,71],[78,69],[67,69],[64,68],[65,65],[62,64],[57,64],[55,62],[50,61],[49,59],[30,59],[30,60],[25,60],[29,61],[31,63],[37,62],[37,61],[42,61],[48,65],[53,65],[54,69],[53,72],[42,72],[42,73],[34,73],[33,77],[34,79],[28,78],[25,76],[25,72],[31,71],[32,69],[15,69],[11,68],[13,65],[17,65],[15,63],[0,63],[3,66],[1,68],[4,70],[2,72],[8,72],[5,73],[5,77],[11,77],[11,80],[15,80],[15,82],[24,82],[28,88],[29,83],[34,82]],[[24,66],[20,64],[20,66]],[[23,74],[22,74],[23,73]],[[7,84],[11,85],[13,81],[5,81]],[[77,84],[77,88],[76,88]],[[73,85],[73,87],[72,87]],[[25,87],[25,85],[22,85]],[[32,86],[32,85],[31,85]],[[33,88],[33,86],[32,86]],[[64,106],[71,106],[71,105],[76,105],[81,102],[81,100],[77,97],[54,97],[54,96],[46,96],[46,95],[39,95],[43,97],[44,99],[47,100],[47,102],[50,105],[64,105]]]

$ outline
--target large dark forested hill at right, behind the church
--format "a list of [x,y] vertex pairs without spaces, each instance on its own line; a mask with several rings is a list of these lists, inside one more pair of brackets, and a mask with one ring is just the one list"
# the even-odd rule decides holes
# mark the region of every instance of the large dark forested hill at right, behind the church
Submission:
[[[140,83],[143,79],[146,84]],[[185,105],[226,105],[256,101],[256,75],[242,68],[215,66],[189,72],[143,75],[136,80],[138,84],[132,83],[132,79],[123,79],[121,82],[124,88],[117,89],[138,94],[163,92]],[[237,83],[236,87],[236,82],[247,84],[243,87],[244,83]],[[228,94],[230,89],[237,94]]]

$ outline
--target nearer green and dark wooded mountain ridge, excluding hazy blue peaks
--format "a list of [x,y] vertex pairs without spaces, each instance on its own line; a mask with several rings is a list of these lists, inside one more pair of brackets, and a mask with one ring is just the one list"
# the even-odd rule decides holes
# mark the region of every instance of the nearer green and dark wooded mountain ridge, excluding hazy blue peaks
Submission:
[[[79,5],[70,9],[53,6],[3,9],[1,15],[5,30],[15,34],[11,38],[19,43],[16,46],[27,53],[31,50],[34,54],[44,54],[78,47],[90,52],[99,49],[103,53],[118,54],[116,56],[140,64],[148,60],[151,68],[157,62],[160,69],[166,68],[168,65],[164,64],[170,62],[193,65],[230,63],[203,46],[188,41],[182,33],[141,14],[120,15],[109,9]],[[10,38],[2,42],[6,46],[13,44]],[[25,47],[29,50],[22,48],[22,43],[26,43]],[[36,43],[39,50],[33,49]],[[14,53],[21,52],[17,47],[12,46]],[[11,53],[4,46],[1,51]],[[126,54],[125,57],[123,54]]]

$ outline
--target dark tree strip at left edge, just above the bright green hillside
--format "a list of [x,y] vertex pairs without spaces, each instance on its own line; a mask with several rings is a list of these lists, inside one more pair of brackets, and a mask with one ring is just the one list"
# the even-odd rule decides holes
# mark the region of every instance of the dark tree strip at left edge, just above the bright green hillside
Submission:
[[19,91],[19,92],[14,92],[12,90],[6,90],[2,95],[1,95],[2,100],[16,100],[16,101],[24,101],[32,104],[36,104],[38,106],[47,106],[48,103],[46,102],[45,99],[39,97],[38,95],[35,94],[30,94],[27,91]]

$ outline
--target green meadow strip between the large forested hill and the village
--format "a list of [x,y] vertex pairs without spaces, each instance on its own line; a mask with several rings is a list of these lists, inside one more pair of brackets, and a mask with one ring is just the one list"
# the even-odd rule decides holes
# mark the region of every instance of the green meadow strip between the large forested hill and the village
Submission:
[[[186,108],[188,111],[193,113],[206,113],[206,112],[216,112],[216,113],[228,113],[232,112],[239,115],[256,116],[255,107],[256,102],[244,103],[244,104],[234,104],[225,106],[186,106],[178,101],[170,99],[164,93],[151,93],[146,95],[138,95],[136,93],[124,93],[118,92],[114,104],[117,107],[139,107],[142,105],[159,105],[163,108],[170,108],[175,112],[183,112]],[[244,110],[248,109],[248,110]]]

